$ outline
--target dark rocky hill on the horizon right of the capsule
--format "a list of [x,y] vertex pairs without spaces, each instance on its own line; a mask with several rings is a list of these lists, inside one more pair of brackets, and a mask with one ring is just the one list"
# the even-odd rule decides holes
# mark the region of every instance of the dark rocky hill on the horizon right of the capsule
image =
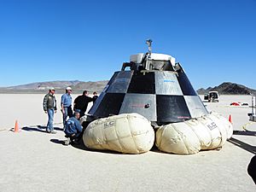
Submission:
[[256,93],[256,90],[250,89],[241,84],[235,84],[230,82],[225,82],[223,84],[219,84],[215,87],[208,87],[206,90],[201,88],[197,90],[199,95],[203,95],[208,93],[211,90],[217,90],[219,94],[222,95],[250,95],[251,93]]

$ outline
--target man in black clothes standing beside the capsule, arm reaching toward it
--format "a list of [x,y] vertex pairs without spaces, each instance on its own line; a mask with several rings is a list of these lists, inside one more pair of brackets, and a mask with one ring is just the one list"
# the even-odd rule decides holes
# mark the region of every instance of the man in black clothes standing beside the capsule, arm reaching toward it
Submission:
[[93,98],[88,96],[89,93],[87,90],[84,90],[83,95],[78,96],[73,102],[73,109],[76,112],[80,113],[80,116],[84,116],[89,102],[93,102]]

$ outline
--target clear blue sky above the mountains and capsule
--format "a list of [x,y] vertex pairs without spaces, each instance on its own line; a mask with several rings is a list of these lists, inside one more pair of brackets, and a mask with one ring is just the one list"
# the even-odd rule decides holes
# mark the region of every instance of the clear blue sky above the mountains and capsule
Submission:
[[195,89],[256,89],[255,0],[0,0],[0,86],[108,80],[147,38]]

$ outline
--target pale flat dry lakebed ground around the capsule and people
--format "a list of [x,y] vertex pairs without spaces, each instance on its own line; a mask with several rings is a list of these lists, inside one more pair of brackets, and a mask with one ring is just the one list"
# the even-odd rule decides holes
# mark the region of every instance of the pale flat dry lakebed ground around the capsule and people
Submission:
[[[209,111],[227,119],[231,117],[234,135],[220,150],[190,155],[166,154],[157,148],[145,154],[119,154],[92,151],[82,145],[64,146],[61,95],[56,95],[57,134],[45,133],[47,114],[43,111],[43,98],[41,94],[0,94],[1,191],[253,192],[256,189],[247,175],[247,165],[256,154],[256,123],[248,120],[251,108],[230,107],[230,102],[251,104],[251,96],[220,96],[219,102],[204,102]],[[15,120],[20,132],[10,131]]]

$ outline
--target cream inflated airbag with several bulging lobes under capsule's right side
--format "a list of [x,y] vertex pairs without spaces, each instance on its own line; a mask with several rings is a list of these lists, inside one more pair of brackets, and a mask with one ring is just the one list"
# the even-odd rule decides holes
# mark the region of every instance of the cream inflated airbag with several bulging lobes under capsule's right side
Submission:
[[232,136],[233,126],[218,113],[161,126],[156,146],[167,153],[195,154],[201,149],[221,148]]

